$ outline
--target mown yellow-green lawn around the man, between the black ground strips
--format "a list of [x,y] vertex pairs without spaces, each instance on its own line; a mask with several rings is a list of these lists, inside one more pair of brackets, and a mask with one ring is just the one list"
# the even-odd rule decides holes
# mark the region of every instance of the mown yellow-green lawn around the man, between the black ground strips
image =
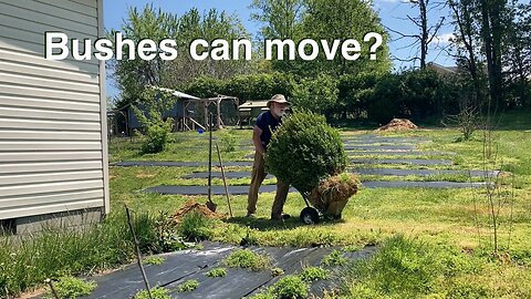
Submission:
[[[317,246],[344,245],[361,248],[365,245],[386,245],[389,237],[404,236],[413,240],[414,246],[425,245],[426,252],[459,258],[460,262],[473,265],[473,271],[446,269],[444,275],[435,275],[434,279],[448,279],[448,287],[437,287],[413,291],[407,296],[431,293],[442,297],[531,297],[531,125],[519,120],[518,128],[506,127],[493,132],[491,137],[492,155],[483,158],[483,133],[478,131],[470,141],[459,142],[460,133],[456,128],[429,128],[407,133],[384,133],[388,136],[419,136],[428,142],[419,145],[420,151],[455,153],[445,156],[423,156],[419,158],[448,158],[452,165],[423,166],[420,168],[448,169],[501,169],[500,188],[489,198],[485,188],[471,189],[427,189],[427,188],[362,188],[351,198],[340,221],[324,221],[316,226],[304,226],[298,217],[284,224],[268,220],[274,194],[263,194],[259,198],[258,219],[247,219],[247,197],[231,196],[235,218],[219,221],[212,228],[210,239],[238,244],[242,237],[250,236],[259,245],[268,246]],[[371,131],[342,130],[344,136],[373,133]],[[228,148],[230,143],[244,144],[250,141],[250,131],[232,130],[216,132],[220,147]],[[379,133],[382,134],[382,133]],[[195,132],[177,133],[179,141],[157,155],[140,155],[138,140],[123,140],[111,147],[112,161],[208,161],[207,136]],[[236,142],[235,142],[236,140]],[[223,144],[225,143],[225,144]],[[118,150],[119,146],[119,151]],[[194,147],[194,151],[184,147]],[[225,161],[249,159],[251,150],[222,150]],[[351,156],[358,157],[354,154]],[[371,156],[369,156],[371,157]],[[373,158],[393,158],[392,156],[373,156]],[[406,156],[410,157],[410,156]],[[372,165],[375,167],[419,168],[415,165]],[[207,171],[206,167],[168,168],[168,167],[132,167],[111,168],[111,192],[113,209],[119,209],[125,203],[137,210],[171,213],[178,209],[189,197],[144,194],[146,187],[166,185],[206,185],[207,179],[186,179],[183,175],[194,171]],[[250,171],[249,167],[232,167],[229,171]],[[377,177],[362,176],[364,181],[430,181],[444,179],[454,182],[478,182],[467,175],[448,175],[434,177]],[[247,185],[248,178],[229,179],[229,185]],[[267,181],[274,182],[274,178]],[[222,185],[222,181],[214,179],[212,184]],[[205,197],[196,200],[206,202]],[[219,213],[228,213],[225,196],[215,196]],[[304,207],[299,194],[290,194],[284,212],[298,216]],[[493,252],[494,233],[492,229],[492,210],[497,221],[497,251]],[[412,245],[413,246],[413,245]],[[430,251],[431,250],[431,251]],[[407,250],[406,250],[407,251]],[[418,258],[418,256],[415,256]],[[410,257],[415,259],[415,257]],[[407,255],[405,256],[407,258]],[[444,259],[444,258],[442,258]],[[404,261],[404,260],[402,260]],[[376,261],[374,261],[376,262]],[[388,261],[382,261],[388,262]],[[368,267],[367,265],[365,265]],[[373,265],[374,266],[374,265]],[[381,265],[392,268],[393,265]],[[434,266],[435,267],[435,266]],[[450,267],[450,266],[448,266]],[[363,267],[358,267],[360,269]],[[429,267],[428,267],[429,268]],[[425,269],[430,271],[430,269]],[[437,271],[435,268],[431,269]],[[448,278],[451,276],[451,279]],[[352,291],[362,289],[376,297],[405,296],[396,289],[382,291],[377,281],[381,278],[360,278],[356,275],[347,279],[345,286],[351,290],[345,296],[354,296]],[[357,277],[357,278],[355,278]],[[435,280],[434,280],[435,281]],[[433,283],[431,281],[430,283]],[[414,281],[412,283],[424,283]],[[437,283],[435,283],[437,285]],[[407,288],[407,286],[404,286]],[[362,291],[363,292],[363,291]],[[367,296],[368,296],[367,295]],[[371,297],[368,296],[368,297]],[[476,297],[475,297],[476,296]],[[355,296],[354,296],[355,297]],[[397,297],[397,298],[398,298]],[[434,297],[439,298],[439,297]]]

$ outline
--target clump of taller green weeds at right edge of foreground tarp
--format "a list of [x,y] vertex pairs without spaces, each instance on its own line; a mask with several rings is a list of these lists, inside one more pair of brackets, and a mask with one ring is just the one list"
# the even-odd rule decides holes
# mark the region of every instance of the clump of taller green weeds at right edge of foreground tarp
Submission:
[[[346,277],[348,295],[352,296],[417,298],[444,292],[444,285],[451,290],[456,287],[452,286],[456,277],[478,270],[476,262],[449,248],[398,235],[385,241],[371,259],[354,262],[343,277]],[[457,289],[467,293],[481,292],[473,286]]]

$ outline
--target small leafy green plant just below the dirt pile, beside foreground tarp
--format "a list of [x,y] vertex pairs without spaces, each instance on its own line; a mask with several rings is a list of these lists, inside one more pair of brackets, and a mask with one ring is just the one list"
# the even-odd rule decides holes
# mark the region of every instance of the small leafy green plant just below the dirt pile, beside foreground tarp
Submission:
[[190,241],[209,239],[212,236],[214,224],[200,213],[188,213],[177,227],[179,234]]

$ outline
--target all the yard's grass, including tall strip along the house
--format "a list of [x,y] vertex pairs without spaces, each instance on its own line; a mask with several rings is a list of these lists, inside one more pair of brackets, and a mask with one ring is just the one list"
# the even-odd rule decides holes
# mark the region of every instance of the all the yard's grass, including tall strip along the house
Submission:
[[[344,298],[531,298],[531,120],[519,117],[518,127],[502,127],[492,134],[493,154],[483,158],[483,134],[458,142],[456,128],[429,128],[407,133],[377,133],[387,136],[426,138],[424,152],[454,153],[442,156],[449,166],[374,164],[372,167],[425,169],[501,169],[499,188],[490,198],[486,188],[364,188],[348,202],[341,220],[324,220],[305,226],[299,213],[305,206],[299,194],[291,193],[284,212],[285,223],[269,220],[274,194],[259,197],[257,218],[243,217],[247,197],[231,196],[231,219],[218,219],[201,230],[202,238],[239,244],[243,238],[261,246],[345,246],[356,250],[377,245],[371,259],[352,265],[343,275],[343,288],[335,297]],[[343,128],[343,136],[374,134],[372,131]],[[226,130],[214,133],[223,161],[250,161],[251,131]],[[160,154],[142,155],[140,137],[111,138],[110,161],[202,161],[208,162],[208,135],[197,132],[175,133],[174,142]],[[216,153],[216,152],[215,152]],[[356,156],[356,153],[351,153]],[[247,157],[246,157],[247,156]],[[366,156],[365,156],[366,157]],[[369,156],[396,158],[394,156]],[[214,156],[217,161],[217,155]],[[136,215],[135,226],[145,254],[186,246],[168,246],[168,235],[154,234],[164,215],[170,215],[187,200],[206,203],[205,196],[147,194],[157,185],[207,185],[206,178],[184,178],[207,167],[110,167],[111,216],[86,235],[49,231],[32,243],[2,238],[0,247],[0,286],[6,293],[19,293],[42,283],[43,278],[62,275],[94,274],[118,267],[134,257],[131,235],[124,225],[124,204]],[[219,171],[219,169],[216,169]],[[227,167],[226,172],[250,167]],[[363,181],[452,181],[479,182],[467,175],[362,176]],[[494,178],[492,178],[494,181]],[[249,178],[228,179],[229,185],[248,185]],[[274,178],[266,184],[274,183]],[[214,185],[222,185],[219,178]],[[218,213],[228,214],[225,196],[214,196]],[[496,217],[492,217],[492,212]],[[149,216],[150,215],[150,216]],[[159,216],[163,215],[163,216]],[[497,223],[493,233],[492,221]],[[167,221],[163,223],[167,225]],[[180,230],[179,230],[180,229]],[[183,227],[177,231],[183,233]],[[191,227],[194,237],[195,228]],[[174,238],[174,235],[169,235]],[[494,237],[497,250],[494,250]],[[181,236],[175,237],[180,239]],[[128,240],[128,241],[127,241]],[[82,245],[80,245],[82,244]],[[53,245],[53,246],[52,246]],[[131,245],[131,244],[129,244]],[[124,247],[125,246],[125,247]],[[45,251],[50,257],[44,257]],[[69,254],[64,254],[69,252]],[[105,255],[102,255],[105,252]],[[17,258],[14,258],[17,257]],[[84,258],[79,258],[84,257]],[[13,264],[14,262],[14,264]],[[25,266],[24,266],[25,265]],[[11,267],[12,266],[12,267]],[[2,280],[3,279],[3,280]],[[331,296],[331,297],[334,297]]]

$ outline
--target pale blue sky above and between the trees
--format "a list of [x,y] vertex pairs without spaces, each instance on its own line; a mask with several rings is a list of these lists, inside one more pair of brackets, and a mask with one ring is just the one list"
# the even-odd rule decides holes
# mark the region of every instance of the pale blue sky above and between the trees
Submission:
[[[415,34],[418,29],[415,24],[407,20],[407,16],[415,17],[418,14],[416,8],[413,8],[405,0],[374,0],[374,10],[378,12],[382,23],[386,28],[391,28],[395,31],[404,34]],[[251,13],[253,10],[249,9],[251,0],[106,0],[104,3],[104,25],[107,30],[119,29],[123,20],[127,17],[127,10],[131,7],[143,8],[146,4],[153,3],[155,8],[162,8],[166,12],[176,13],[181,16],[189,11],[191,8],[197,8],[199,12],[208,11],[211,8],[216,8],[219,11],[225,10],[228,13],[237,14],[247,31],[256,37],[259,29],[263,25],[251,20]],[[439,20],[440,17],[447,16],[446,9],[433,9],[429,12],[428,19],[434,20],[434,23]],[[446,23],[449,18],[446,17]],[[446,24],[440,28],[437,37],[434,39],[434,45],[428,51],[427,61],[434,61],[441,65],[454,65],[454,59],[449,56],[441,48],[448,45],[448,39],[451,37],[452,25]],[[415,56],[418,52],[418,47],[410,47],[412,39],[398,39],[398,34],[389,32],[392,41],[388,43],[392,56],[394,56],[395,69],[412,66],[412,62],[405,62]],[[417,62],[418,65],[418,62]],[[107,75],[107,95],[116,95],[117,89],[114,86],[114,82]]]

